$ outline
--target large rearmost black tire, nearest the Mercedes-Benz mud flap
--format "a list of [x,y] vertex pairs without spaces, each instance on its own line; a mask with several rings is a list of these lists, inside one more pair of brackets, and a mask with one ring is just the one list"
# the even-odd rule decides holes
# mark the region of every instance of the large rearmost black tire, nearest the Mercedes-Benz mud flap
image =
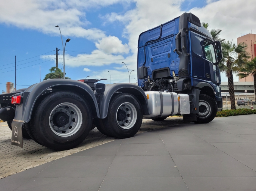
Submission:
[[[52,115],[52,112],[57,111],[57,109],[59,109],[60,111],[57,112],[56,114],[64,113],[64,112],[61,112],[62,110],[59,107],[56,109],[57,106],[64,103],[70,104],[74,106],[74,108],[77,108],[77,111],[79,112],[78,115],[80,115],[80,118],[76,118],[76,121],[79,121],[77,122],[78,125],[76,125],[75,127],[70,126],[70,124],[72,123],[72,120],[74,119],[73,117],[72,117],[73,119],[69,118],[71,114],[74,113],[74,112],[72,113],[71,111],[71,113],[67,114],[67,118],[66,118],[66,121],[68,124],[66,125],[64,124],[63,127],[61,125],[50,126],[49,121],[52,116],[55,116],[55,115]],[[73,115],[76,116],[76,113]],[[52,123],[55,124],[55,122],[51,121],[51,124]],[[67,127],[70,126],[71,128],[70,127],[67,128],[65,126]],[[56,130],[53,130],[53,127]],[[66,128],[66,129],[63,129],[62,131],[64,133],[66,133],[65,131],[71,132],[73,131],[73,129],[76,129],[76,131],[74,131],[74,134],[64,137],[65,134],[63,134],[62,136],[61,134],[62,132],[58,134],[57,131],[59,127],[60,129]],[[33,111],[33,114],[30,120],[30,128],[34,138],[41,145],[44,145],[45,147],[58,150],[58,151],[74,148],[76,145],[83,142],[83,140],[86,138],[89,131],[91,130],[91,127],[92,127],[92,111],[89,104],[80,95],[75,94],[73,92],[67,92],[67,91],[55,92],[45,97],[41,101],[41,103],[38,105],[38,107],[35,108],[35,110]]]

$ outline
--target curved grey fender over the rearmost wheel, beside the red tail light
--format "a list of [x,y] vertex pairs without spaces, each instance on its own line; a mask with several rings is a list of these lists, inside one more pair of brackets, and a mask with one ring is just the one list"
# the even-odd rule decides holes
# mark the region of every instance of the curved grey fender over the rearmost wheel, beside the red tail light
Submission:
[[[77,80],[71,80],[71,79],[48,79],[43,82],[31,85],[24,92],[20,93],[20,95],[23,96],[23,103],[16,106],[14,119],[24,121],[26,123],[29,122],[32,111],[33,111],[33,107],[40,95],[46,93],[47,89],[49,88],[57,88],[60,91],[63,91],[63,90],[65,91],[65,87],[66,87],[66,90],[69,89],[67,88],[67,86],[70,86],[73,88],[76,87],[76,90],[78,89],[78,93],[82,95],[84,94],[89,95],[89,97],[91,97],[94,102],[97,117],[100,118],[98,103],[89,85],[83,82],[80,82]],[[72,91],[72,90],[69,89],[68,91]],[[77,91],[74,91],[74,93],[76,92]]]

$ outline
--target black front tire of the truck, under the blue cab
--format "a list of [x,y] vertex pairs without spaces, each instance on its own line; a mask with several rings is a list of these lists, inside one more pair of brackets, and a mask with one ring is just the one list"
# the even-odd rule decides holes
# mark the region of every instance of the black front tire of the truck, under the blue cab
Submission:
[[[201,106],[200,106],[200,103],[202,103]],[[205,105],[203,105],[203,104],[205,104]],[[196,120],[197,121],[194,121],[194,122],[195,123],[209,123],[216,116],[216,113],[217,113],[217,110],[218,110],[217,103],[210,96],[205,95],[205,94],[200,94],[199,95],[199,108],[198,108],[198,110],[201,114],[196,114]]]

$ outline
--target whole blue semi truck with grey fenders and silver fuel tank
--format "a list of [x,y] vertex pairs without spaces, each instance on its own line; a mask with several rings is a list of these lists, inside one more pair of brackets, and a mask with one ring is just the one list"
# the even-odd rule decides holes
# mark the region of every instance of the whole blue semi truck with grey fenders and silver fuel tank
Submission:
[[50,79],[0,95],[0,119],[12,130],[11,144],[23,138],[66,150],[89,131],[134,136],[142,118],[172,115],[195,123],[212,121],[222,110],[221,43],[192,13],[183,13],[139,35],[138,85],[105,85],[97,79]]

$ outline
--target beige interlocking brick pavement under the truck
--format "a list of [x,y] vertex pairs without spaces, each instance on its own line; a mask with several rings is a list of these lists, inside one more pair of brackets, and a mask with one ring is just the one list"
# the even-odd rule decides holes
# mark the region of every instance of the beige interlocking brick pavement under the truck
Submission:
[[[181,123],[186,123],[182,117],[168,117],[164,121],[143,119],[138,133]],[[116,140],[114,137],[105,136],[95,128],[90,131],[88,137],[80,145],[70,150],[55,151],[37,144],[32,139],[25,138],[23,138],[22,149],[11,145],[11,130],[6,122],[2,122],[0,129],[0,179],[114,140]]]

